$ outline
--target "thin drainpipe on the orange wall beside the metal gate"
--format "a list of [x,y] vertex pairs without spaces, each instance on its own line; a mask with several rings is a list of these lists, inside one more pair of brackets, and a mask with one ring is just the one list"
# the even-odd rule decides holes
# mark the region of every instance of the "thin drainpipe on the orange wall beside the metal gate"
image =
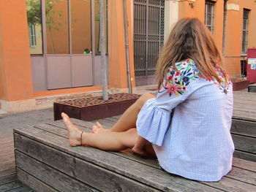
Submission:
[[124,36],[125,36],[125,49],[127,56],[127,80],[128,80],[128,88],[129,93],[132,93],[132,85],[131,85],[131,72],[129,69],[129,42],[128,42],[128,32],[127,32],[127,1],[124,0]]

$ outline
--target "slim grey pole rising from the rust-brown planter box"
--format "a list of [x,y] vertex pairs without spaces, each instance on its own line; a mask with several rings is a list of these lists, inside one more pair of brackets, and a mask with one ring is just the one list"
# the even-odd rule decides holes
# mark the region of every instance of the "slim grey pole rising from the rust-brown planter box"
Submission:
[[106,55],[105,55],[105,19],[104,19],[104,4],[103,0],[99,0],[99,20],[100,20],[100,52],[101,52],[101,64],[102,64],[102,92],[103,100],[108,100],[108,87],[107,87],[107,67],[106,67]]

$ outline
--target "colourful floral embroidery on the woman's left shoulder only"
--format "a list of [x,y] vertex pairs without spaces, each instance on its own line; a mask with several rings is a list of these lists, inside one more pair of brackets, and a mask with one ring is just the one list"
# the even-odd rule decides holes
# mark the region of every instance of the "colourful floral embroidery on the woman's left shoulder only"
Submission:
[[178,69],[178,72],[176,72],[172,67],[169,69],[165,85],[162,85],[170,96],[173,94],[176,94],[176,96],[179,96],[179,94],[182,95],[187,91],[187,85],[189,85],[190,80],[196,80],[199,78],[199,72],[197,71],[192,59],[187,59],[186,61],[177,63],[176,68]]

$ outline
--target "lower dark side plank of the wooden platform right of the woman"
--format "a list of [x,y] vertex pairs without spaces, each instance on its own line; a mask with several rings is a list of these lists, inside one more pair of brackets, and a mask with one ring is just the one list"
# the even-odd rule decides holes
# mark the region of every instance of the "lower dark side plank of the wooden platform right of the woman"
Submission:
[[231,134],[236,150],[243,150],[249,153],[256,154],[256,138],[244,137],[236,134]]

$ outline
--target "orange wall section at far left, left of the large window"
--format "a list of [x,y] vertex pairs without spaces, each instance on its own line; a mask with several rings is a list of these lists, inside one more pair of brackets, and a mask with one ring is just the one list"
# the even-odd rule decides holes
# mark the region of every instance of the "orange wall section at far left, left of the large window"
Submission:
[[32,99],[25,1],[1,0],[0,21],[0,99],[5,101]]

